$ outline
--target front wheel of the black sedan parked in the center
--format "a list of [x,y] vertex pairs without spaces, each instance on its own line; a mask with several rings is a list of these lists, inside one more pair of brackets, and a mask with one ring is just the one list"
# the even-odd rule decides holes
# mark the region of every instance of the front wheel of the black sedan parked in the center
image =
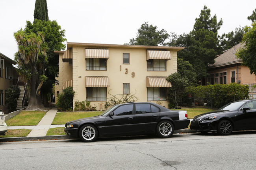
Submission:
[[79,130],[79,137],[83,142],[93,142],[98,137],[98,130],[92,124],[85,124]]

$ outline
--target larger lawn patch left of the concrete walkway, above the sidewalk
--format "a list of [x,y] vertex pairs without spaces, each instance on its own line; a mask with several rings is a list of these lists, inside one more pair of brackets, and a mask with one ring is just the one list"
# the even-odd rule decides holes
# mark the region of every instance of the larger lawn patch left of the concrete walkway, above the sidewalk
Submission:
[[18,115],[6,121],[7,126],[35,126],[44,117],[46,112],[21,111]]

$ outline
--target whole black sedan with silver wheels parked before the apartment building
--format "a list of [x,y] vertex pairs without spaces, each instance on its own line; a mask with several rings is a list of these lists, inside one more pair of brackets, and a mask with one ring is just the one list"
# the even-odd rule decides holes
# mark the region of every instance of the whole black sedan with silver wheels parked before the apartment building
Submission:
[[65,133],[93,142],[97,137],[156,133],[161,138],[187,128],[186,111],[172,111],[151,102],[130,102],[110,107],[102,114],[65,124]]

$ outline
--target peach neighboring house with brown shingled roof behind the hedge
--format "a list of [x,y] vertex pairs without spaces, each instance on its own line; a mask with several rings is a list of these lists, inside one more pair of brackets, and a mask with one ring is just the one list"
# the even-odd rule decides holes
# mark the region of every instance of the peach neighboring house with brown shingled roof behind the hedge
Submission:
[[249,95],[255,95],[256,91],[251,86],[256,84],[256,76],[250,74],[250,69],[242,65],[242,60],[236,57],[236,52],[243,48],[243,44],[237,44],[218,55],[215,63],[210,66],[209,77],[205,79],[205,84],[229,84],[240,83],[249,85]]

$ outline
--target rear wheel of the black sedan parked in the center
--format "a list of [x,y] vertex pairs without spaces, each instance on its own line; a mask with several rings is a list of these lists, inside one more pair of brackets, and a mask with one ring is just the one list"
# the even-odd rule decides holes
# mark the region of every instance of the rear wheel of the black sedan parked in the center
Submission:
[[161,138],[168,138],[173,135],[174,126],[169,121],[161,121],[156,126],[156,134]]

